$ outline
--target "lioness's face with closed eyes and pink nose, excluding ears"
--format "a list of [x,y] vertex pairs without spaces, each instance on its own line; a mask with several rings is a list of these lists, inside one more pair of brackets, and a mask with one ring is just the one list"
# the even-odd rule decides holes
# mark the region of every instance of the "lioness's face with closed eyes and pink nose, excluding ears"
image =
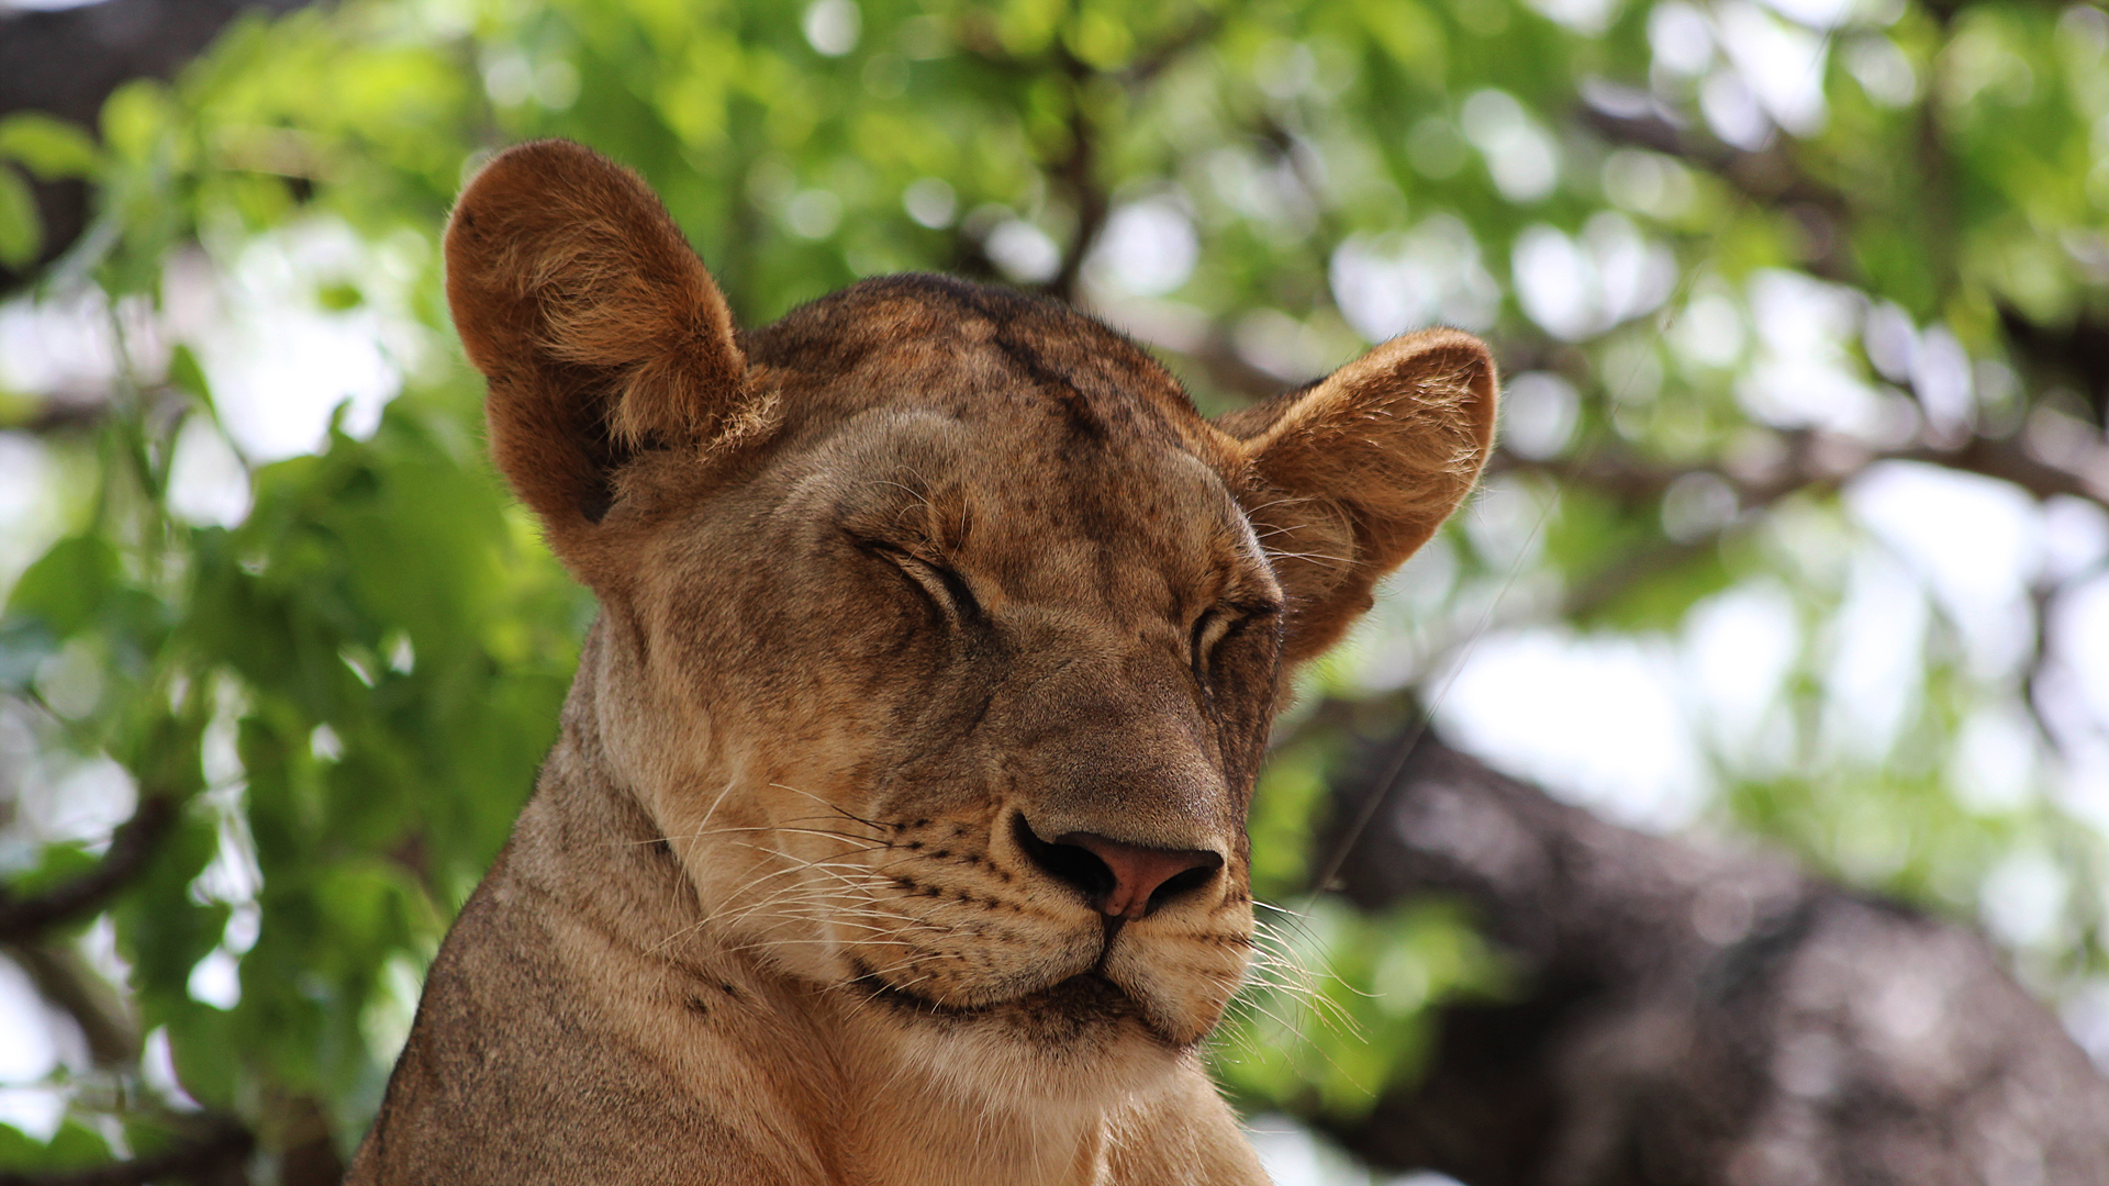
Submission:
[[[780,371],[812,422],[650,530],[603,728],[723,933],[785,969],[932,1026],[1189,1045],[1251,933],[1265,551],[1170,424],[1092,433],[945,287],[858,295],[806,342],[854,365]],[[1126,853],[1078,836],[1164,880],[1107,914]]]

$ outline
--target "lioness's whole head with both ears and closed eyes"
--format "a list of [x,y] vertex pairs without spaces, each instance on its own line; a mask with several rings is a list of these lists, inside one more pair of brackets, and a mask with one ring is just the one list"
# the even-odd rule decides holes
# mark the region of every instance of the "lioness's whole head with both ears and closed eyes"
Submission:
[[1012,1070],[1208,1034],[1284,669],[1470,490],[1476,340],[1208,422],[1120,333],[953,279],[740,331],[561,141],[468,186],[447,293],[500,468],[601,599],[588,724],[707,916],[671,950]]

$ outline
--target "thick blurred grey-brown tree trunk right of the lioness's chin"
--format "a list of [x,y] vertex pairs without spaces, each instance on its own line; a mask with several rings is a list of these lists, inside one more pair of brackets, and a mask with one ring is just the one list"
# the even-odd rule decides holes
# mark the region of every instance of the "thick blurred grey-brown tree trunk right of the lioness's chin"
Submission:
[[1331,1125],[1466,1186],[2105,1186],[2109,1083],[1972,931],[1776,853],[1607,825],[1430,734],[1341,884],[1455,895],[1525,971],[1428,1074]]

